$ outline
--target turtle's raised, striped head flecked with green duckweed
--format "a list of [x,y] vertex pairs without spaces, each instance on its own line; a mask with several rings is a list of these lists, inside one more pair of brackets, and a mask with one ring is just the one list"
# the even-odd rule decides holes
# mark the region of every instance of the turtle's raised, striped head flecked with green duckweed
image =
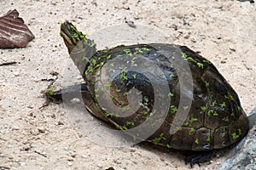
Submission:
[[61,24],[61,37],[63,37],[64,42],[68,48],[69,54],[76,47],[76,51],[82,50],[84,46],[90,45],[90,48],[95,48],[96,44],[93,40],[87,39],[86,34],[78,31],[78,29],[73,26],[71,22],[65,21]]

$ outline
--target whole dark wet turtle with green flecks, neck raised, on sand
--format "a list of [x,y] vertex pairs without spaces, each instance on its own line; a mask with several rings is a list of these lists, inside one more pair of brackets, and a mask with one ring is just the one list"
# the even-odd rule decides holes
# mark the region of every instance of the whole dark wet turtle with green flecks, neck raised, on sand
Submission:
[[81,93],[93,116],[131,139],[200,152],[185,159],[191,166],[247,135],[249,123],[236,91],[211,61],[187,46],[139,43],[97,51],[96,42],[69,21],[61,24],[61,37],[85,83],[51,91],[51,98]]

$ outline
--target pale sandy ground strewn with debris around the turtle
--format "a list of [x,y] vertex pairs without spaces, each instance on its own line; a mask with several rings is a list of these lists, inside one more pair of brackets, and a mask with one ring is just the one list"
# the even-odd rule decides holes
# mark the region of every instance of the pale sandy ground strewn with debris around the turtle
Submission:
[[[11,169],[189,169],[183,155],[148,144],[108,147],[79,133],[65,107],[44,105],[40,93],[50,82],[40,81],[59,72],[53,88],[65,80],[67,48],[59,36],[60,23],[71,20],[92,34],[133,20],[156,26],[168,42],[201,51],[230,82],[248,113],[256,105],[255,3],[231,0],[9,0],[0,1],[0,13],[16,8],[35,39],[26,48],[0,49],[0,167]],[[104,40],[102,40],[104,41]],[[108,44],[106,44],[108,45]],[[72,66],[74,69],[74,65]],[[79,72],[73,75],[81,82]],[[104,141],[102,141],[104,142]],[[218,154],[219,155],[219,154]],[[220,154],[221,155],[221,154]],[[226,155],[225,155],[226,156]],[[217,169],[226,159],[194,169]]]

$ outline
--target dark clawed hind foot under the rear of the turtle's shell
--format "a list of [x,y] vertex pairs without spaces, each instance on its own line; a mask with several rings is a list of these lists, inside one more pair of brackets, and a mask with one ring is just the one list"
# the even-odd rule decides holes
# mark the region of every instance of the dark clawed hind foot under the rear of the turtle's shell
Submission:
[[195,164],[198,164],[200,167],[200,163],[211,160],[212,153],[212,151],[191,153],[191,155],[185,156],[185,164],[187,165],[189,163],[191,168],[194,167]]

